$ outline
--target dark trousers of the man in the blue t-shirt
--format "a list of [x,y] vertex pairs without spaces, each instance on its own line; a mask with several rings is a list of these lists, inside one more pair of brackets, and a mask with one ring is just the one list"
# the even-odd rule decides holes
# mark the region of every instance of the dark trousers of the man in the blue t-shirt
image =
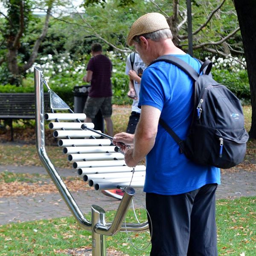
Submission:
[[146,193],[151,256],[218,255],[216,189],[217,184],[207,184],[180,195]]

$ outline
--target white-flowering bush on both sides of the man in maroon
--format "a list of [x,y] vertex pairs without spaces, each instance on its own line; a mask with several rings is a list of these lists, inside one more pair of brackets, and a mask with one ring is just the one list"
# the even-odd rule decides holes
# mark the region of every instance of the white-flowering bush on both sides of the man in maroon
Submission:
[[[112,70],[112,90],[114,104],[130,104],[132,101],[127,97],[129,78],[125,75],[125,63],[127,54],[106,52],[113,64]],[[47,55],[41,57],[38,62],[27,70],[27,81],[33,83],[34,67],[38,66],[43,70],[45,79],[49,86],[64,99],[67,104],[73,105],[73,88],[86,84],[82,81],[86,74],[87,63],[90,55],[83,56],[83,61],[73,61],[70,54],[60,54],[58,56]]]

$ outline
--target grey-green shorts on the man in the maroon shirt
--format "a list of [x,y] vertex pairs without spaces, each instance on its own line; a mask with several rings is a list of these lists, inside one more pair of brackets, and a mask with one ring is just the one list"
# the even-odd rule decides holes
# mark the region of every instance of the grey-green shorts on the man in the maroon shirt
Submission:
[[93,98],[88,96],[84,106],[84,113],[87,117],[94,119],[99,110],[103,117],[111,117],[112,115],[112,96]]

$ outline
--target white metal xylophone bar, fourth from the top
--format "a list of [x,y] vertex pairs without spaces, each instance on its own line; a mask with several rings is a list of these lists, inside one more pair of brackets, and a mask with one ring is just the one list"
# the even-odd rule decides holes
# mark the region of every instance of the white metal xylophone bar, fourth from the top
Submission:
[[60,147],[68,147],[68,146],[109,146],[111,144],[111,140],[109,139],[63,139],[58,141],[58,145]]

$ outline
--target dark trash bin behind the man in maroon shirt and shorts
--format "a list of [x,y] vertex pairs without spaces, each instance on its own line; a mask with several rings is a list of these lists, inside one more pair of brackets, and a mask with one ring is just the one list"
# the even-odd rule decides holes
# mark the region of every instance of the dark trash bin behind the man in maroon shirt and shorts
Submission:
[[[81,85],[74,87],[74,112],[84,113],[84,105],[90,91],[90,85]],[[100,130],[104,133],[104,120],[101,110],[98,111],[95,118],[92,119],[94,123],[94,129]]]

